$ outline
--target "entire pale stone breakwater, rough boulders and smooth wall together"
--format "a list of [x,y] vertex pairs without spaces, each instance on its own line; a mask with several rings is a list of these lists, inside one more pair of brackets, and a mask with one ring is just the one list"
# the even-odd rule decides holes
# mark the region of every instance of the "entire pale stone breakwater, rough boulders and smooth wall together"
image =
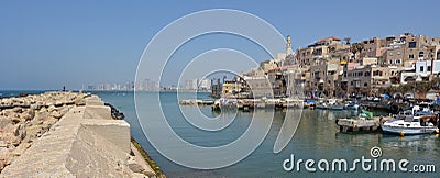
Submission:
[[47,92],[0,107],[0,177],[156,177],[129,123],[97,96]]

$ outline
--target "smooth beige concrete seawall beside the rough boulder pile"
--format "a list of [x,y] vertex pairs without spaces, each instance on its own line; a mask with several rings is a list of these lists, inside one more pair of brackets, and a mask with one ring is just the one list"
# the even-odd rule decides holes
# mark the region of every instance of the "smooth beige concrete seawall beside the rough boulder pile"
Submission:
[[1,177],[156,177],[131,143],[130,125],[112,120],[97,96],[73,107]]

